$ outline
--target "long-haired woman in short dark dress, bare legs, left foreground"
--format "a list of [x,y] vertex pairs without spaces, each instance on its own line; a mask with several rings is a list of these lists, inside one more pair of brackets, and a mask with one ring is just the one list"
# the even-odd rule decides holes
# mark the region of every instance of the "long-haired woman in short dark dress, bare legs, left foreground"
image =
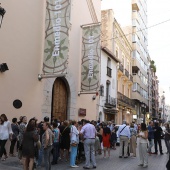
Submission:
[[38,141],[38,134],[35,134],[35,122],[30,121],[23,135],[22,141],[22,156],[24,170],[32,170],[35,157],[34,143]]

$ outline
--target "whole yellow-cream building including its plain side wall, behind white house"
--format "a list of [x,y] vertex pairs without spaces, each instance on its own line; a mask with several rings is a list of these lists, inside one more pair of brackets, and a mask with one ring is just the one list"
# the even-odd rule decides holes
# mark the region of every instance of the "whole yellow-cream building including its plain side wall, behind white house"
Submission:
[[117,107],[115,118],[117,124],[122,120],[132,122],[135,105],[132,95],[132,46],[126,38],[119,23],[114,19],[113,10],[102,11],[102,46],[113,52],[120,61],[117,70]]

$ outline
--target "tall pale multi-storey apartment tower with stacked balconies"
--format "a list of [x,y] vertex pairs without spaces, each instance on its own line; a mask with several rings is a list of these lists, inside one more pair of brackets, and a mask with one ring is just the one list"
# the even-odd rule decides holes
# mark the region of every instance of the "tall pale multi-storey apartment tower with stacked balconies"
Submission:
[[138,122],[145,121],[148,107],[148,75],[147,70],[147,2],[132,0],[132,48],[133,48],[133,89],[132,97],[136,101]]

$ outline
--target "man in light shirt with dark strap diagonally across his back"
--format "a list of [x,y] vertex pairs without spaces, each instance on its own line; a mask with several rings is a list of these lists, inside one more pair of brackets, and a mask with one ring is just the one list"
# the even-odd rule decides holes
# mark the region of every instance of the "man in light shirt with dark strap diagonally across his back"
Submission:
[[128,142],[130,140],[130,129],[126,126],[126,121],[123,121],[123,124],[118,129],[118,137],[120,138],[120,150],[119,150],[119,158],[122,158],[123,151],[123,142],[124,142],[124,158],[127,158],[127,148]]

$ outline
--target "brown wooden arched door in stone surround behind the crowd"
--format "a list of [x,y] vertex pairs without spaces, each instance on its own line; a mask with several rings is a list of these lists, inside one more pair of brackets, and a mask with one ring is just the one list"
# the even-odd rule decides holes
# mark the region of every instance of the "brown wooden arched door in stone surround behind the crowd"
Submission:
[[53,85],[52,115],[55,119],[67,119],[68,88],[66,80],[57,78]]

